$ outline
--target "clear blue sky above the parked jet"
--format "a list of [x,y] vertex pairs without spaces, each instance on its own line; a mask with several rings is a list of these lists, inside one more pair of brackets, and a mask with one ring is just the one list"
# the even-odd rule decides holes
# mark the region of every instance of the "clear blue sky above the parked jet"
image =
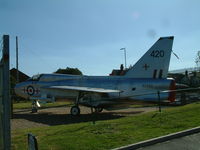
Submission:
[[199,0],[0,0],[0,35],[10,35],[10,66],[28,75],[79,68],[108,75],[134,64],[160,36],[175,36],[170,70],[195,67]]

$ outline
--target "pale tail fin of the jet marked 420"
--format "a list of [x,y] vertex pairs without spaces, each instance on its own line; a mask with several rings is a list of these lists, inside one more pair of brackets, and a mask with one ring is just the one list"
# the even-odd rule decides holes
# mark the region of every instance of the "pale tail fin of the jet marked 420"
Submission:
[[125,74],[132,78],[167,78],[173,36],[161,37]]

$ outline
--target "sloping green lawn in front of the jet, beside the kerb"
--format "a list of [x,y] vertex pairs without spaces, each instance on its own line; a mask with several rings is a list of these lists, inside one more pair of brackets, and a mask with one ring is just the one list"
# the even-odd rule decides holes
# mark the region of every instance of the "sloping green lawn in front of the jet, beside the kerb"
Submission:
[[199,126],[199,115],[200,103],[195,103],[96,124],[85,122],[15,130],[12,149],[27,149],[28,133],[36,135],[40,150],[112,149]]

